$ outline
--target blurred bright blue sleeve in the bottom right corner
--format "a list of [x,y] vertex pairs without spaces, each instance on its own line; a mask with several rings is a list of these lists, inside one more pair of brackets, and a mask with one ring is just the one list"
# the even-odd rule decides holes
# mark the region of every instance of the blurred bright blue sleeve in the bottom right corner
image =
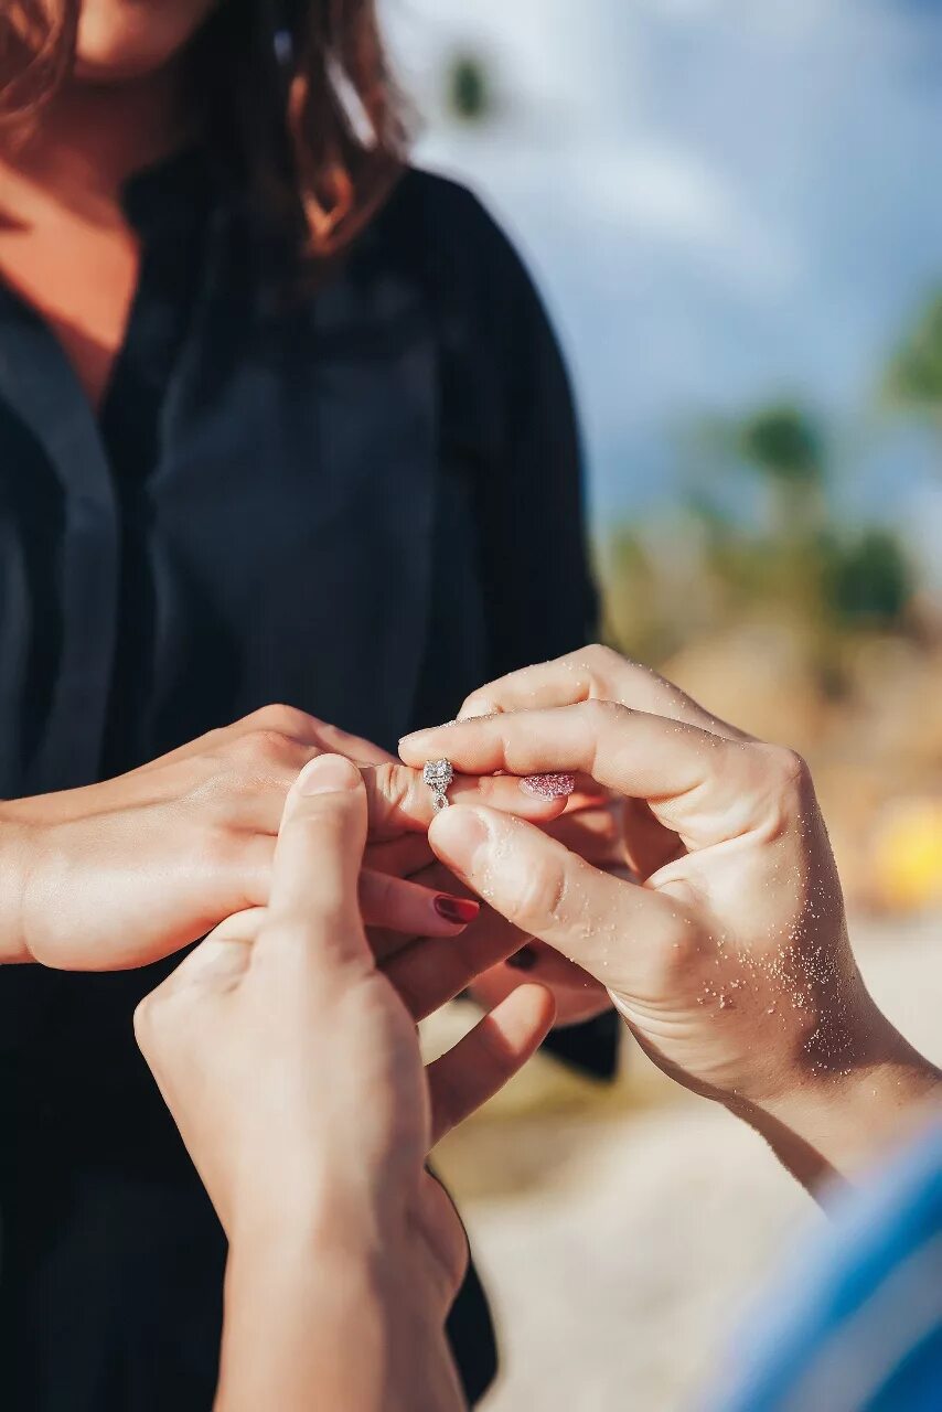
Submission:
[[833,1216],[730,1351],[712,1412],[942,1412],[942,1121]]

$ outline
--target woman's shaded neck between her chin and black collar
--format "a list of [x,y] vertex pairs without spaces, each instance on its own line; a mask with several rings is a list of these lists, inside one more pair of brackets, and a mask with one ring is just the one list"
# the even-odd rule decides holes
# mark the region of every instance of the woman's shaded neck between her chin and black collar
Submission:
[[184,65],[175,64],[127,83],[68,83],[27,137],[0,144],[4,212],[17,192],[72,206],[90,219],[113,209],[133,172],[185,141],[184,79]]

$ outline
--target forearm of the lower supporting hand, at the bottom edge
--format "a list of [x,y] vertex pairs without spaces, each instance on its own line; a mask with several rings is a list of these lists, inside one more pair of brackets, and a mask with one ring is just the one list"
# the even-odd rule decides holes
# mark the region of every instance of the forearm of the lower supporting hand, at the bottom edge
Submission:
[[215,1412],[460,1412],[445,1332],[388,1258],[233,1241]]

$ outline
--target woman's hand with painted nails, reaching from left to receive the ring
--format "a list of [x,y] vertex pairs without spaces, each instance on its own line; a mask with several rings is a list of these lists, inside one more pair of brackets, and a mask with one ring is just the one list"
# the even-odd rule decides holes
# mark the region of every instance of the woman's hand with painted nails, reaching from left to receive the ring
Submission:
[[[374,840],[360,888],[366,921],[456,935],[470,912],[401,878],[428,856],[432,799],[421,774],[304,712],[271,706],[119,779],[0,805],[0,960],[144,966],[264,905],[287,792],[325,750],[364,760]],[[462,781],[453,795],[469,788],[479,792]],[[513,781],[480,788],[499,806],[520,806]],[[531,816],[547,813],[534,803]]]

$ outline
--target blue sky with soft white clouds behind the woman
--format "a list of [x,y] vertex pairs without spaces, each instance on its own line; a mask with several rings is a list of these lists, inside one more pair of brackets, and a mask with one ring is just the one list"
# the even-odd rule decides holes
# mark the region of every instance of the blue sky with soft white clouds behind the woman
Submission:
[[[427,120],[527,251],[573,367],[596,515],[675,491],[678,429],[780,394],[837,426],[847,517],[932,554],[942,474],[867,407],[942,287],[942,4],[386,0]],[[500,103],[441,104],[456,48]],[[938,558],[942,554],[935,551]]]

